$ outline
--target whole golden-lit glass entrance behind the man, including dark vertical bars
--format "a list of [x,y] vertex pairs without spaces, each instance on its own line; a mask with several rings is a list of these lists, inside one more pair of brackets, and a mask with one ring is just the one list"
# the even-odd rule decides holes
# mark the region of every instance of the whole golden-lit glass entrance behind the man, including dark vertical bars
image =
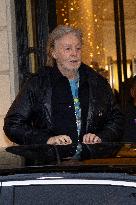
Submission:
[[123,83],[136,74],[136,1],[56,0],[57,23],[79,27],[83,62],[106,77],[124,100]]

